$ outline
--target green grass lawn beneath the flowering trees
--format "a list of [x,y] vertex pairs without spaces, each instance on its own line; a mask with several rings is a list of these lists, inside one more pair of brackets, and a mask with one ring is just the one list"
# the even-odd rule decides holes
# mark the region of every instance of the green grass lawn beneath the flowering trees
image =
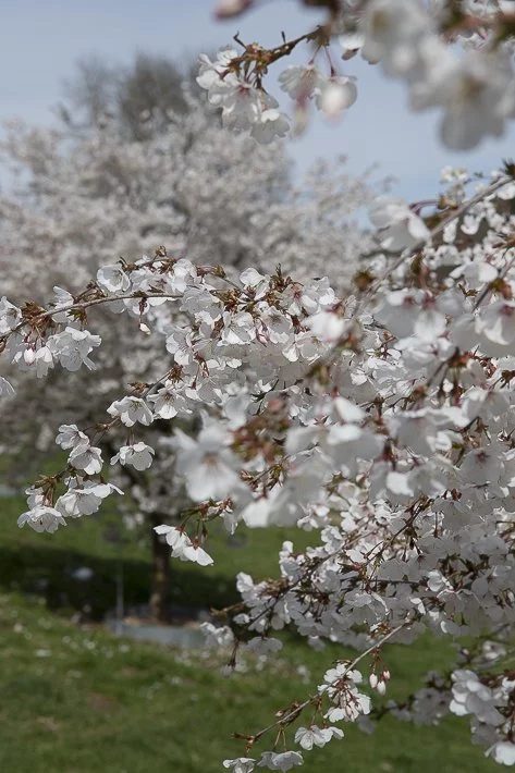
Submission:
[[[341,648],[317,653],[290,637],[263,671],[255,660],[231,677],[220,655],[137,645],[98,624],[77,626],[74,611],[90,603],[99,614],[114,605],[113,576],[123,563],[130,603],[147,598],[147,553],[135,541],[103,539],[114,513],[71,522],[53,536],[19,530],[23,500],[3,499],[0,543],[0,771],[16,773],[211,773],[243,753],[234,731],[252,733],[273,713],[316,688]],[[210,541],[214,567],[174,564],[174,594],[185,605],[222,605],[236,598],[241,567],[273,575],[283,539],[303,533],[250,531],[240,543],[219,532]],[[88,566],[95,577],[73,580]],[[445,667],[452,648],[428,639],[391,646],[391,697],[420,685],[429,668]],[[307,675],[299,674],[305,666]],[[306,717],[308,721],[308,717]],[[303,722],[304,724],[304,722]],[[417,728],[391,719],[371,736],[345,726],[345,738],[305,754],[306,773],[479,773],[498,770],[469,743],[467,722]],[[269,748],[265,743],[262,749]],[[293,747],[291,747],[293,748]],[[259,750],[259,747],[257,748]],[[257,754],[256,754],[257,756]]]

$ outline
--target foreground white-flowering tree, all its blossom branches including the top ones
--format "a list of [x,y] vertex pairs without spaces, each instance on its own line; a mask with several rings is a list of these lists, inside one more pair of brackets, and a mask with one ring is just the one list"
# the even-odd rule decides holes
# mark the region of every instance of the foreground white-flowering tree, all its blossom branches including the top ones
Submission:
[[[223,0],[218,13],[253,4]],[[334,36],[344,59],[361,50],[402,78],[415,108],[440,107],[450,147],[471,147],[512,118],[510,3],[306,4],[329,16],[299,40],[203,58],[199,84],[229,127],[263,143],[285,134],[287,119],[265,90],[268,68],[302,40],[332,61]],[[280,76],[297,126],[311,101],[329,114],[354,101],[354,83],[333,69],[321,74],[311,58]],[[209,572],[214,522],[229,532],[242,523],[314,532],[305,551],[284,542],[279,579],[242,567],[242,603],[206,634],[229,646],[230,663],[244,648],[281,649],[275,631],[286,626],[315,648],[329,640],[357,653],[267,727],[240,735],[242,756],[223,762],[235,773],[287,771],[341,739],[346,723],[373,729],[385,713],[433,725],[467,717],[488,756],[515,764],[515,168],[480,181],[446,170],[444,182],[430,218],[400,200],[372,204],[377,233],[354,296],[324,278],[234,274],[156,254],[111,262],[82,292],[59,290],[46,304],[2,300],[3,359],[36,376],[38,361],[81,372],[99,357],[100,309],[161,347],[95,426],[56,428],[68,463],[28,490],[21,527],[53,532],[87,516],[114,491],[109,466],[151,468],[148,429],[195,413],[198,432],[175,424],[159,449],[192,503],[179,524],[156,527],[172,556]],[[0,384],[12,398],[10,382]],[[422,689],[378,703],[395,678],[383,645],[408,647],[427,631],[470,643]]]

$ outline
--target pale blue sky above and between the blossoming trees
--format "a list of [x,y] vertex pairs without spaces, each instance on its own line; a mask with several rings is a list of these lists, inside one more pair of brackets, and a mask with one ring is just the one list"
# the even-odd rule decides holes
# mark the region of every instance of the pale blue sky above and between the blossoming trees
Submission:
[[[50,107],[77,59],[96,53],[126,62],[136,50],[175,59],[229,42],[235,32],[245,41],[274,45],[321,19],[302,11],[296,0],[269,0],[237,20],[214,22],[213,0],[1,0],[0,118],[51,123]],[[303,60],[302,52],[297,61]],[[445,164],[489,171],[514,155],[515,126],[500,140],[475,151],[451,154],[438,139],[438,114],[413,114],[402,86],[359,59],[342,62],[356,75],[359,97],[342,122],[327,125],[319,115],[306,135],[290,143],[299,168],[322,156],[346,155],[359,172],[373,162],[381,175],[394,175],[396,191],[426,198],[438,187]],[[277,68],[275,72],[280,72]],[[273,90],[273,88],[270,88]]]

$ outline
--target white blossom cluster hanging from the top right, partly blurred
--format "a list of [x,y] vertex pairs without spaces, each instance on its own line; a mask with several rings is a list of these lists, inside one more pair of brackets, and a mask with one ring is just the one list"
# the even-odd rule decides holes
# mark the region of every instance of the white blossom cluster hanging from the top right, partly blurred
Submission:
[[[252,3],[231,4],[241,12]],[[333,41],[345,62],[360,53],[403,81],[413,110],[439,108],[440,135],[449,148],[469,149],[483,137],[500,136],[514,118],[513,3],[336,0],[317,4],[327,4],[329,20],[295,40],[273,49],[243,45],[242,52],[228,47],[214,62],[203,54],[197,81],[207,89],[210,103],[222,108],[225,125],[247,130],[260,143],[289,132],[287,116],[262,81],[268,68],[301,42],[314,49],[308,63],[287,66],[279,75],[281,89],[295,100],[296,131],[304,128],[310,102],[329,118],[344,112],[357,91],[355,78],[341,74],[333,61]],[[323,72],[327,62],[328,73]]]

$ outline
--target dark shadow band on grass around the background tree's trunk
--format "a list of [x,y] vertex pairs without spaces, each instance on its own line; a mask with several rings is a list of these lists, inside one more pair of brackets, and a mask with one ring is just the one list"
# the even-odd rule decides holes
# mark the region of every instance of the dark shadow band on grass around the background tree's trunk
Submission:
[[[89,579],[75,577],[91,570]],[[98,557],[76,550],[0,547],[0,586],[45,599],[49,610],[81,612],[101,621],[115,608],[117,578],[123,570],[125,610],[148,602],[150,565],[135,559]],[[183,610],[219,609],[238,600],[234,579],[188,565],[172,568],[172,603]]]

